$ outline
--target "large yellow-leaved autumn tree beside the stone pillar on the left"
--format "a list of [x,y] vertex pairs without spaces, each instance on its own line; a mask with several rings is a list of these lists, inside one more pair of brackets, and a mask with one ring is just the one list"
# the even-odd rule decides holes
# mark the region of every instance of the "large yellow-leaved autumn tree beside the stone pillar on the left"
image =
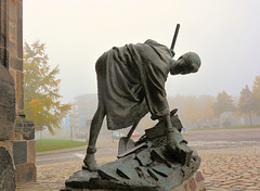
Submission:
[[61,79],[56,78],[60,68],[51,67],[44,46],[39,41],[24,46],[24,111],[37,130],[48,127],[54,133],[72,106],[61,103]]

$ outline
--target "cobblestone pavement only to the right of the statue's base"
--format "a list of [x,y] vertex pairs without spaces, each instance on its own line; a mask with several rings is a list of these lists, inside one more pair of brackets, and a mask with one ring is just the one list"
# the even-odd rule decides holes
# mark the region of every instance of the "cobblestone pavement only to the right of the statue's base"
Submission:
[[260,191],[260,147],[200,150],[198,154],[208,191]]

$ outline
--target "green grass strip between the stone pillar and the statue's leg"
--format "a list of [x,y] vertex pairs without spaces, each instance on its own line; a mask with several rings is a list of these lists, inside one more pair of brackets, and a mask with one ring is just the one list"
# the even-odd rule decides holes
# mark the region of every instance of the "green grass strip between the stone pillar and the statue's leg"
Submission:
[[42,139],[36,140],[36,152],[76,148],[80,145],[87,145],[87,142],[61,139]]

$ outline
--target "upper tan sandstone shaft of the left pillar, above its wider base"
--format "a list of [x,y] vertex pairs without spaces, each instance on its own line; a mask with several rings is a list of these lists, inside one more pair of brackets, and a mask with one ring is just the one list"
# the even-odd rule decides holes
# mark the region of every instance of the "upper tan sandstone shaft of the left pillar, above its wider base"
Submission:
[[[15,82],[16,114],[24,113],[24,75],[23,75],[23,1],[1,0],[6,4],[5,27],[5,49],[8,52],[8,63],[11,75]],[[3,37],[4,38],[4,37]]]

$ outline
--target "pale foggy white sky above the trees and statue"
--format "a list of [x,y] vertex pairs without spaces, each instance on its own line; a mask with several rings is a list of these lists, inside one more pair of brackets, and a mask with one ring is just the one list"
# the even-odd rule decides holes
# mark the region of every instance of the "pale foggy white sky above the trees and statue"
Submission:
[[203,64],[196,74],[169,75],[168,96],[239,96],[252,86],[260,75],[259,0],[24,0],[24,41],[47,43],[64,102],[96,92],[103,52],[146,39],[170,47],[178,23],[174,59],[194,51]]

